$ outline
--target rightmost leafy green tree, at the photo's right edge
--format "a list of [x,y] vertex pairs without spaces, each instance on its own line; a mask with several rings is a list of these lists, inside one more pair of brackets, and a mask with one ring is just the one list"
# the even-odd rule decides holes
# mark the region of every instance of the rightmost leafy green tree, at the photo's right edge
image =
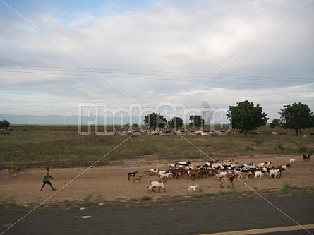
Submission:
[[284,129],[296,130],[296,135],[301,134],[302,129],[313,127],[313,112],[306,104],[288,104],[280,109],[280,125]]

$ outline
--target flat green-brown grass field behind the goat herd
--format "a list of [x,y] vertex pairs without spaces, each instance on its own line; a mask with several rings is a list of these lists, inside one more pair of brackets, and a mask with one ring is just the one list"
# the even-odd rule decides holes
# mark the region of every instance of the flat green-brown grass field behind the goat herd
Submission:
[[296,136],[271,135],[273,129],[260,128],[263,135],[79,135],[78,126],[10,126],[1,131],[0,168],[86,167],[123,159],[154,155],[162,159],[223,159],[254,155],[303,155],[314,152],[313,129]]

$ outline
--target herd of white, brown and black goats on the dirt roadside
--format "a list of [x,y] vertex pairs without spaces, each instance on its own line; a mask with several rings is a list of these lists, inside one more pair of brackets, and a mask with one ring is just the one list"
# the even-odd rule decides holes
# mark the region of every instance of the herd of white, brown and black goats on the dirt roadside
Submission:
[[[312,154],[303,155],[302,162],[310,162],[310,156]],[[261,162],[258,164],[239,164],[234,160],[227,161],[210,161],[200,165],[193,165],[190,161],[177,162],[175,164],[157,164],[156,169],[150,169],[149,171],[143,171],[143,174],[139,175],[138,171],[128,172],[128,180],[132,180],[133,183],[141,182],[145,176],[157,176],[157,181],[150,180],[150,184],[147,186],[147,191],[155,193],[155,189],[160,192],[161,189],[166,192],[165,184],[170,179],[186,179],[187,181],[213,177],[213,179],[219,181],[220,188],[227,184],[227,187],[234,188],[234,179],[248,180],[252,176],[253,179],[262,179],[263,176],[267,176],[268,179],[278,179],[284,171],[287,171],[291,164],[296,159],[290,158],[289,164],[280,165],[277,167],[272,166],[272,162]],[[188,192],[194,192],[196,185],[188,186]]]

